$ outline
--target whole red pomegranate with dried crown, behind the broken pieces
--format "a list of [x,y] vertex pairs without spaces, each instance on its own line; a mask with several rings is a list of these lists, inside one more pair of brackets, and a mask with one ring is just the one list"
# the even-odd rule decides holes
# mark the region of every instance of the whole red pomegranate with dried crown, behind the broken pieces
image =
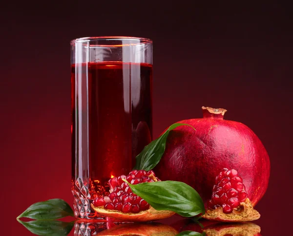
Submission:
[[203,118],[170,131],[166,150],[155,172],[161,180],[185,182],[207,206],[215,177],[223,168],[236,169],[243,179],[252,206],[265,194],[270,159],[259,138],[247,126],[224,120],[222,108],[202,107]]

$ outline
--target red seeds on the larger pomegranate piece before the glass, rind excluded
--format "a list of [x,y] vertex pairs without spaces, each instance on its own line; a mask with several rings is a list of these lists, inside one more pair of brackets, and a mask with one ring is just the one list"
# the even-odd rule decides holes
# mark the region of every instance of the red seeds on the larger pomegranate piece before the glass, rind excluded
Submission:
[[110,194],[97,197],[93,200],[95,207],[104,206],[107,210],[116,210],[123,213],[139,213],[149,209],[149,204],[140,196],[132,193],[129,185],[123,181],[126,179],[131,184],[160,181],[153,171],[132,171],[127,176],[121,175],[109,180]]

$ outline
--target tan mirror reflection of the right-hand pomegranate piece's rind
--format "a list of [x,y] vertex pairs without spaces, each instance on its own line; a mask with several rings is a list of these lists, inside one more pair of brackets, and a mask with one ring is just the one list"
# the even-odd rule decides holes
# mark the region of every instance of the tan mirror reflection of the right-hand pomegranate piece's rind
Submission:
[[209,236],[252,236],[260,233],[260,227],[252,223],[221,224],[203,230]]

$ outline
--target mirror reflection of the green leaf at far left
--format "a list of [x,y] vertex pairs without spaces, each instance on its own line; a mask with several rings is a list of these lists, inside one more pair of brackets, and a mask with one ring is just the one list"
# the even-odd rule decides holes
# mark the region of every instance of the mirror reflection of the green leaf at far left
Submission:
[[74,221],[62,222],[57,220],[33,220],[29,222],[18,221],[30,232],[40,236],[64,236],[73,228]]

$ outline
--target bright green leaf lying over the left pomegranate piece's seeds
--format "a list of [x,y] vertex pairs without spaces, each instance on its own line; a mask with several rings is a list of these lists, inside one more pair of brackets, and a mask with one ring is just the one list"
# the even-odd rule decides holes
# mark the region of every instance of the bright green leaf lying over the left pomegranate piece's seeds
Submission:
[[169,210],[185,217],[205,214],[200,195],[185,183],[158,181],[129,186],[133,193],[145,199],[156,210]]

